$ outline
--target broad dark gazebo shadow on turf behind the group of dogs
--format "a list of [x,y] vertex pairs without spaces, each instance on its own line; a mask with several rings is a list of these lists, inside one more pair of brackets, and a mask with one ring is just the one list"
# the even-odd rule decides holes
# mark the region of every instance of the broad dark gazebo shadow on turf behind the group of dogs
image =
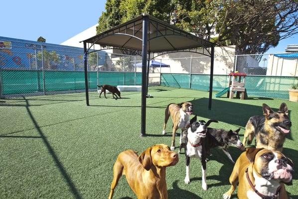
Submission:
[[[193,104],[193,114],[199,117],[216,119],[219,122],[234,124],[236,126],[245,126],[248,119],[253,115],[263,115],[263,109],[260,105],[251,105],[245,103],[237,103],[235,100],[224,101],[212,99],[212,109],[206,110],[208,107],[208,98],[200,98],[191,100]],[[268,104],[270,106],[270,104]],[[290,107],[291,108],[291,107]],[[277,108],[272,108],[278,111]],[[291,110],[289,110],[291,116]],[[287,135],[288,139],[293,140],[291,133]]]

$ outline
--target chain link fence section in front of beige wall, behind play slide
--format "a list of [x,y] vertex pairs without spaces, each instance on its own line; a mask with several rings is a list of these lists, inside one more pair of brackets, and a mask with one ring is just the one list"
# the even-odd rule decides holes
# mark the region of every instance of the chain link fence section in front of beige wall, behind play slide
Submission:
[[[209,91],[210,58],[162,59],[169,68],[161,71],[161,85]],[[298,54],[262,54],[214,57],[213,91],[229,85],[230,72],[246,73],[250,96],[289,99],[288,89],[298,83]]]

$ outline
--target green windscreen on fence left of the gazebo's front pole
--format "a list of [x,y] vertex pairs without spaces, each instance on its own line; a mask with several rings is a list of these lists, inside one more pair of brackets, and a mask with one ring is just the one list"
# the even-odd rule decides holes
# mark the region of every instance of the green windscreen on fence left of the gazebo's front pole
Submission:
[[[43,94],[41,70],[0,70],[2,95]],[[142,84],[141,73],[99,72],[99,84]],[[88,72],[89,89],[97,88],[97,72]],[[44,71],[45,93],[77,91],[85,89],[84,71]],[[40,95],[40,94],[39,94]]]

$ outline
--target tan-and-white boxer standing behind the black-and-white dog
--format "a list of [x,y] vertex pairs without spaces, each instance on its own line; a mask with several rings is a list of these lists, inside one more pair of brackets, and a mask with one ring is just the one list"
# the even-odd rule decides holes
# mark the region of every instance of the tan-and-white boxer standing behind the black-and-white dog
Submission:
[[[192,114],[192,103],[191,102],[182,102],[182,103],[170,103],[166,106],[164,112],[164,124],[162,134],[165,134],[165,126],[166,122],[171,116],[173,121],[173,130],[172,130],[172,143],[171,150],[175,149],[175,134],[178,128],[181,128],[182,131],[184,127],[189,124],[189,115]],[[182,136],[182,132],[180,134],[180,139]]]

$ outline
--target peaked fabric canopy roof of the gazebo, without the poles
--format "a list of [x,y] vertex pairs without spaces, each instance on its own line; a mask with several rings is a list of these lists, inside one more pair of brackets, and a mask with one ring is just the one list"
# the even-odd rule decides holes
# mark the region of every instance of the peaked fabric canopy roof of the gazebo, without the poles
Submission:
[[83,42],[88,44],[88,50],[94,44],[99,44],[142,51],[144,17],[148,17],[148,52],[171,52],[202,48],[203,50],[200,50],[201,54],[211,55],[209,48],[215,46],[214,43],[185,32],[148,14],[141,14]]

